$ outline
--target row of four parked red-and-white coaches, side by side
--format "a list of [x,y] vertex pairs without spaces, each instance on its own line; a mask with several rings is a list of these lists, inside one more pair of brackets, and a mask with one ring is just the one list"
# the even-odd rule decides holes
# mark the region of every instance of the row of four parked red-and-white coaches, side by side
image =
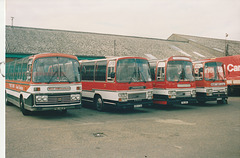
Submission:
[[148,61],[114,57],[78,61],[60,53],[38,54],[6,64],[6,104],[31,111],[80,108],[91,103],[133,109],[154,104],[227,102],[225,67],[221,62],[192,62],[173,56]]

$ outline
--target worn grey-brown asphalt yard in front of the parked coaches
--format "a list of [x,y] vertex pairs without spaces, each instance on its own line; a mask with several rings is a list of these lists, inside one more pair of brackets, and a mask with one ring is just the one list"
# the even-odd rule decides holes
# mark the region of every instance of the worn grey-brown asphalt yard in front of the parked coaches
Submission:
[[240,97],[228,104],[90,107],[23,116],[6,106],[7,158],[239,158]]

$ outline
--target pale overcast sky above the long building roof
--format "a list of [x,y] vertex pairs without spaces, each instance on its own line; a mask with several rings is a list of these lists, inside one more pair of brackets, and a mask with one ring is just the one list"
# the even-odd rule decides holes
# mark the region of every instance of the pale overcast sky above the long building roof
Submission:
[[240,0],[6,0],[6,25],[240,41]]

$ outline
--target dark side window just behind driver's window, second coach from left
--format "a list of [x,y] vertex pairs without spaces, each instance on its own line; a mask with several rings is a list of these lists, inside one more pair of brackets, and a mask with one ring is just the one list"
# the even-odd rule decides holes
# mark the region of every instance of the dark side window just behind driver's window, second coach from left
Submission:
[[95,67],[95,81],[106,81],[107,61],[98,61]]

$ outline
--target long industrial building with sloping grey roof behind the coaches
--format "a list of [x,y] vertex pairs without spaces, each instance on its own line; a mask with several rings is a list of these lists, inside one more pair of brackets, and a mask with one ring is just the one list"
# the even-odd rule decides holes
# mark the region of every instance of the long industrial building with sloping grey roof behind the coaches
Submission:
[[[143,30],[144,31],[144,30]],[[168,39],[6,26],[6,62],[38,53],[66,53],[79,60],[108,56],[192,60],[240,54],[240,41],[172,34]]]

